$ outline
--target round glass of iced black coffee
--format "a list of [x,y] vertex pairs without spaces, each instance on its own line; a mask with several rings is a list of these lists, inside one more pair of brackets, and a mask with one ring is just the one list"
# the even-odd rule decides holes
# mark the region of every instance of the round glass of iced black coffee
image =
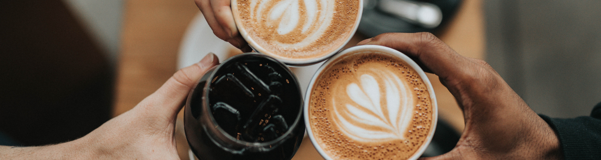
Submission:
[[284,64],[257,53],[233,56],[188,96],[186,138],[204,160],[288,160],[305,133],[302,108],[296,77]]

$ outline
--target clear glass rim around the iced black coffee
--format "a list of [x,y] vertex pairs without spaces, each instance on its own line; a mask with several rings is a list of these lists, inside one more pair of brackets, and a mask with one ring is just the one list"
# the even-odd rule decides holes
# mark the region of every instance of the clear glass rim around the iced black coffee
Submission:
[[[260,56],[262,58],[266,58],[266,59],[270,59],[272,61],[278,62],[278,65],[281,65],[281,67],[284,68],[284,70],[286,70],[288,72],[288,74],[291,75],[291,78],[293,79],[294,83],[296,83],[296,86],[298,87],[299,90],[299,95],[301,95],[301,86],[298,84],[298,79],[296,78],[296,76],[292,73],[292,71],[290,70],[290,68],[288,68],[286,65],[284,65],[282,62],[278,61],[278,59],[275,58],[271,58],[270,56],[266,56],[263,54],[259,54],[259,53],[242,53],[240,55],[236,55],[236,56],[232,56],[231,58],[225,59],[225,61],[221,62],[221,64],[225,64],[228,61],[231,61],[233,59],[238,59],[241,58],[242,56]],[[217,73],[217,71],[219,71],[219,69],[221,67],[223,67],[224,65],[218,65],[215,67],[215,70],[213,70],[213,72],[210,74],[209,79],[213,79],[215,77],[215,74]],[[205,99],[208,99],[209,96],[209,91],[207,90],[210,86],[209,81],[207,81],[206,84],[204,84],[203,86],[203,101],[201,103],[203,103],[203,105],[208,106],[206,103],[208,103]],[[213,114],[207,114],[209,117],[208,119],[210,120],[210,124],[209,125],[213,125],[216,126],[215,129],[217,129],[218,132],[221,132],[224,137],[227,138],[227,141],[233,142],[234,144],[237,145],[242,145],[242,146],[248,146],[248,147],[264,147],[264,146],[270,146],[270,145],[274,145],[274,144],[280,144],[282,143],[282,141],[287,140],[288,138],[290,138],[291,134],[293,134],[293,131],[295,127],[297,127],[298,125],[301,125],[299,123],[301,123],[302,117],[303,117],[303,111],[302,111],[302,107],[304,106],[304,101],[302,101],[302,95],[301,95],[301,106],[300,106],[300,110],[299,110],[299,114],[294,118],[294,122],[292,123],[292,125],[290,125],[290,127],[288,127],[288,131],[284,132],[283,135],[281,135],[278,138],[275,138],[274,140],[270,140],[270,141],[265,141],[265,142],[249,142],[249,141],[243,141],[243,140],[237,140],[236,137],[232,137],[230,134],[227,134],[227,132],[225,132],[221,126],[218,125],[218,123],[215,121],[215,117],[213,117]],[[208,108],[208,107],[207,107]],[[203,108],[204,109],[204,108]],[[273,147],[275,148],[275,147]]]

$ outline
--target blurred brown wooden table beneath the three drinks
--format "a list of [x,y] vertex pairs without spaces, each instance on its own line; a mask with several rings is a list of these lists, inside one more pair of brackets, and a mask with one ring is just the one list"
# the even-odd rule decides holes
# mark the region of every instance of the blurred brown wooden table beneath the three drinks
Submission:
[[[438,35],[461,55],[478,59],[484,58],[485,43],[481,3],[481,0],[463,1],[456,17]],[[180,41],[186,27],[199,12],[191,0],[129,0],[124,8],[114,116],[133,108],[177,71]],[[349,46],[361,40],[354,38]],[[429,79],[436,92],[441,119],[450,122],[457,131],[463,131],[463,113],[457,102],[437,76],[429,74]],[[178,128],[182,126],[178,125]],[[179,137],[180,141],[186,142]],[[310,141],[304,141],[298,153],[306,156],[294,159],[321,159],[310,145]],[[178,143],[180,147],[188,146]],[[180,158],[188,159],[186,150],[180,150]]]

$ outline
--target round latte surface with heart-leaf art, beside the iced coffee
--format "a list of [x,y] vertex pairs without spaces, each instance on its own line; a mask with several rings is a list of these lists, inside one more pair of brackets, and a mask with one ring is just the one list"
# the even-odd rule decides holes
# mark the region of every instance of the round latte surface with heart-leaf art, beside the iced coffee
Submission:
[[317,78],[309,122],[334,159],[406,159],[431,131],[426,84],[400,58],[363,52],[332,62]]

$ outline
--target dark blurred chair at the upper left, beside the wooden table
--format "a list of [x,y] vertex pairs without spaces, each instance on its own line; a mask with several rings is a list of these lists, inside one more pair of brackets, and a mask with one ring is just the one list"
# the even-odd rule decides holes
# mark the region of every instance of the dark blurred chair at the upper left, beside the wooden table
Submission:
[[0,2],[0,132],[20,145],[82,137],[111,118],[106,54],[59,0]]

